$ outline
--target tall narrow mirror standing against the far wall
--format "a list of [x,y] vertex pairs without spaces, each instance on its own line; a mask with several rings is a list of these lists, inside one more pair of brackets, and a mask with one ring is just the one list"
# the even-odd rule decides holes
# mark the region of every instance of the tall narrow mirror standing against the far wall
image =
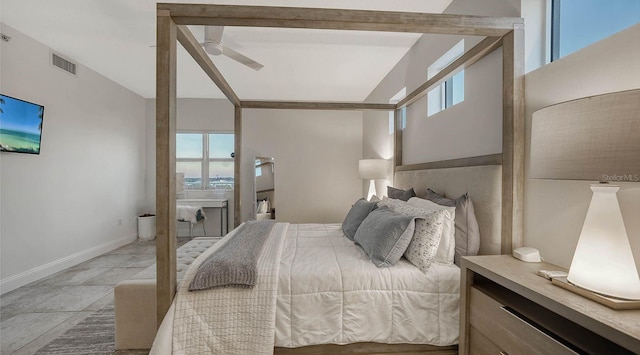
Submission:
[[254,169],[255,219],[276,219],[274,159],[256,157]]

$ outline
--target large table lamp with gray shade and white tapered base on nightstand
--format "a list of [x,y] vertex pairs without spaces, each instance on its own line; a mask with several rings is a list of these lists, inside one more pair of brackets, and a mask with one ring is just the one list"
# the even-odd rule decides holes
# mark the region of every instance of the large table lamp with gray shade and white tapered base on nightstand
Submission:
[[600,181],[591,185],[569,283],[608,298],[640,300],[640,277],[618,204],[620,186],[612,184],[640,182],[640,90],[535,112],[530,163],[530,178]]

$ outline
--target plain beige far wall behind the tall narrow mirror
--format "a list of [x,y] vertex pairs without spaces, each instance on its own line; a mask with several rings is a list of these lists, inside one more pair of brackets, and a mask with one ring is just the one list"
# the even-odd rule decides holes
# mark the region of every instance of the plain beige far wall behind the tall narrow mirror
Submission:
[[242,113],[242,220],[253,216],[253,159],[273,157],[276,219],[341,223],[361,197],[362,113],[255,110]]

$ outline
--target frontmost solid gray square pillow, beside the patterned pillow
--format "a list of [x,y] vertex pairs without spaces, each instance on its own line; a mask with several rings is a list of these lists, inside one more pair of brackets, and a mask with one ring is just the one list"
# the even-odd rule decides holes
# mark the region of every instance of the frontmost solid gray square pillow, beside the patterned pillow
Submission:
[[362,221],[354,240],[377,267],[393,266],[411,243],[415,219],[382,206]]

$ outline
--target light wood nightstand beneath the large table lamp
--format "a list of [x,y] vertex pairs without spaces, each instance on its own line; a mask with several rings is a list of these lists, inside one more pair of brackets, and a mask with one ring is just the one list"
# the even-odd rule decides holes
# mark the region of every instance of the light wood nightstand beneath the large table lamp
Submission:
[[461,262],[460,354],[640,353],[640,310],[613,310],[537,275],[563,270],[509,255]]

